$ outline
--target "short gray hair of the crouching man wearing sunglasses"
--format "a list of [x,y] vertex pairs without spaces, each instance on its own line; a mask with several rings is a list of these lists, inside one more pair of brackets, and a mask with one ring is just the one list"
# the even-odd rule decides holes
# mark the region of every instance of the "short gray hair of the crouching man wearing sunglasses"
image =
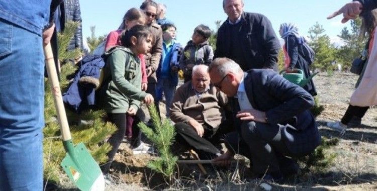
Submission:
[[212,70],[215,70],[216,73],[219,74],[219,76],[224,77],[227,73],[234,73],[238,74],[238,72],[241,69],[241,67],[232,59],[230,58],[215,58],[210,67],[208,68],[208,72],[211,72]]

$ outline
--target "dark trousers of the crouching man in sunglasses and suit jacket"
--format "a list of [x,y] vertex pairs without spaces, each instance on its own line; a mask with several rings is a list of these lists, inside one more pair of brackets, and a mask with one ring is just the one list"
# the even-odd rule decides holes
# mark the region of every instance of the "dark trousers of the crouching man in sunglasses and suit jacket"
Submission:
[[241,125],[241,135],[239,132],[227,134],[225,144],[234,153],[249,158],[256,175],[266,170],[270,174],[280,174],[280,167],[287,161],[285,156],[294,157],[286,145],[289,140],[282,135],[283,128],[282,125],[246,121]]

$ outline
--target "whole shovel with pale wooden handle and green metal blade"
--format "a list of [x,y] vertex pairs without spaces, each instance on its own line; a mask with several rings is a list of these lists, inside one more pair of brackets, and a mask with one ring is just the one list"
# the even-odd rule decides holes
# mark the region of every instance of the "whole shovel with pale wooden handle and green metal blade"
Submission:
[[67,153],[60,165],[80,190],[103,191],[105,190],[105,180],[100,166],[83,143],[79,143],[76,146],[73,145],[50,43],[44,47],[44,53],[63,146]]

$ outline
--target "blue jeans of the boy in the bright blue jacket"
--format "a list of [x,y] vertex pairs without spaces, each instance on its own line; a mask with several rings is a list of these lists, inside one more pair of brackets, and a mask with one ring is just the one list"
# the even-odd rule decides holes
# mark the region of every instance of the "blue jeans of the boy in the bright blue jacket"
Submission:
[[157,101],[156,105],[158,106],[158,102],[161,100],[162,92],[163,92],[165,95],[166,117],[169,117],[169,114],[170,114],[169,108],[170,108],[171,102],[173,101],[175,89],[176,89],[176,86],[172,85],[171,80],[169,80],[168,78],[160,78],[157,80],[157,92],[159,93],[158,95],[156,95],[156,101]]

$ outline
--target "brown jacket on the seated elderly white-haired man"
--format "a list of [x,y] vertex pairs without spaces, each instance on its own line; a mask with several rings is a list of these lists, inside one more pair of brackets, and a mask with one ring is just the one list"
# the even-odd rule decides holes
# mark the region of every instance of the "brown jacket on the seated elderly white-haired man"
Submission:
[[188,122],[195,119],[200,124],[218,128],[225,120],[224,109],[229,109],[228,98],[210,86],[210,89],[198,98],[191,81],[178,87],[170,106],[170,119],[174,123]]

